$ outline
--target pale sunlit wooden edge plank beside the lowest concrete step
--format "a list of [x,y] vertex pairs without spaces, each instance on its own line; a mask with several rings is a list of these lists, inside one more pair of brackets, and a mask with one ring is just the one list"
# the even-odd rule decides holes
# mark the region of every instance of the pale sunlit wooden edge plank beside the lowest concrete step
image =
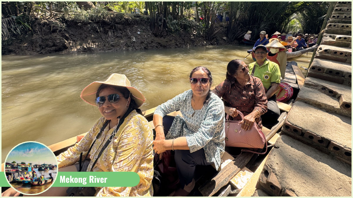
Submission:
[[270,154],[268,154],[265,159],[261,162],[260,166],[256,169],[250,180],[245,184],[244,188],[241,189],[241,191],[237,194],[237,197],[251,197],[254,194],[256,190],[257,181],[260,178],[260,174],[269,155]]

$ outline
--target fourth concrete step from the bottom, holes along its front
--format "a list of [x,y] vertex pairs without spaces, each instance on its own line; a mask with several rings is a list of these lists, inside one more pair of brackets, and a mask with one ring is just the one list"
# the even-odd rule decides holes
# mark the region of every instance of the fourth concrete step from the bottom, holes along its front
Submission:
[[314,58],[309,68],[308,76],[350,86],[352,80],[352,65],[349,63]]

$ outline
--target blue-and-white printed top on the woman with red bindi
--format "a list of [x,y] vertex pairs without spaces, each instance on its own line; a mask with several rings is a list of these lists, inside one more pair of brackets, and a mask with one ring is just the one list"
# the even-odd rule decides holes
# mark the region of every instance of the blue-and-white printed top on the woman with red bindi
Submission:
[[225,112],[222,100],[211,93],[208,104],[202,109],[194,110],[191,106],[192,90],[185,91],[159,105],[154,114],[162,117],[173,111],[180,110],[183,117],[179,115],[174,118],[166,140],[177,137],[186,137],[190,152],[204,148],[205,157],[208,162],[214,162],[216,169],[221,164],[221,157],[225,149]]

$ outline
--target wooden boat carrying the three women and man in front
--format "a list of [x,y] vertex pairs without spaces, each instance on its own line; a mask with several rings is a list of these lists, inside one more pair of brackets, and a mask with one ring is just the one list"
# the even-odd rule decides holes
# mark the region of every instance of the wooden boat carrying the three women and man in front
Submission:
[[[303,74],[301,74],[300,69],[296,66],[297,64],[295,62],[289,62],[288,64],[288,78],[283,79],[283,81],[290,82],[293,85],[293,88],[301,88],[304,84]],[[298,73],[298,71],[300,73]],[[289,75],[292,73],[294,73],[295,76],[297,76],[297,74],[299,75],[299,77],[295,77],[295,82],[293,81],[293,77]],[[297,94],[298,93],[296,92],[296,94],[293,95],[294,99]],[[216,171],[215,168],[211,166],[204,166],[203,168],[205,169],[202,170],[197,168],[195,173],[196,185],[194,190],[190,193],[190,196],[228,196],[229,194],[238,194],[238,196],[251,196],[252,193],[255,191],[255,185],[264,166],[264,162],[266,161],[268,153],[270,152],[272,146],[279,137],[278,132],[280,132],[280,129],[287,116],[287,112],[289,111],[289,109],[291,109],[293,101],[293,99],[289,100],[287,104],[277,102],[281,110],[281,116],[278,119],[279,123],[273,126],[271,129],[267,129],[265,127],[262,128],[262,131],[266,136],[269,145],[266,154],[258,155],[245,152],[234,159],[234,157],[232,157],[231,155],[229,155],[229,153],[226,152],[222,156],[223,163],[218,171]],[[151,125],[152,129],[154,129],[152,118],[155,109],[156,107],[144,111],[144,117],[149,121],[149,124]],[[169,113],[169,115],[182,116],[180,111],[174,111],[172,113]],[[60,153],[66,151],[69,147],[77,143],[85,134],[86,133],[69,138],[59,143],[52,144],[49,146],[49,148],[53,150],[55,155],[59,155]],[[252,176],[250,177],[249,181],[246,182],[243,190],[241,190],[239,188],[234,187],[235,185],[233,180],[236,180],[239,175],[243,175],[245,169],[249,169],[252,172]],[[205,172],[207,172],[208,174],[204,174]],[[160,194],[157,194],[157,196],[158,195]],[[167,194],[163,195],[166,196]]]

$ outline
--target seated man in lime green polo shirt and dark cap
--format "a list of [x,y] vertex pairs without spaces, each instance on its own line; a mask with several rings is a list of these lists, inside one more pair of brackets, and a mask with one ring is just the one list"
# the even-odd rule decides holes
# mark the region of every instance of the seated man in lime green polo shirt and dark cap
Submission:
[[[255,49],[256,62],[249,64],[249,72],[251,75],[261,79],[262,85],[266,91],[267,112],[261,116],[262,124],[271,129],[277,124],[280,117],[280,109],[277,105],[276,91],[281,83],[281,72],[278,64],[266,59],[267,48],[264,45],[258,45]],[[254,68],[255,67],[255,68]],[[253,70],[254,68],[254,70]]]

